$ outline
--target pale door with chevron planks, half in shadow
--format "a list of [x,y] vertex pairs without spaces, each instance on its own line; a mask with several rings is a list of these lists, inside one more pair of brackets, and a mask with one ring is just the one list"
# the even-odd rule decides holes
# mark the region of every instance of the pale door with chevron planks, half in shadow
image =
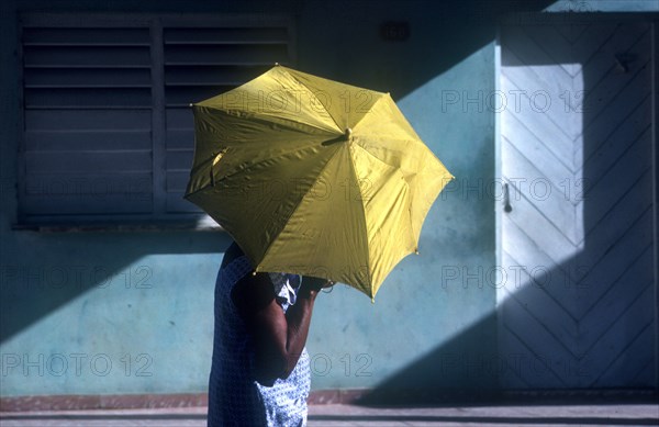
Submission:
[[651,25],[501,29],[505,389],[656,384]]

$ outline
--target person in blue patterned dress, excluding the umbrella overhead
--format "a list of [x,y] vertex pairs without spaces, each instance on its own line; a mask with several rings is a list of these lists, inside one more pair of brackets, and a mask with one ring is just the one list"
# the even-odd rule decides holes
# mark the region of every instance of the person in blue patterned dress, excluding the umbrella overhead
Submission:
[[253,271],[233,243],[215,285],[208,425],[304,426],[311,385],[306,337],[316,295],[334,283]]

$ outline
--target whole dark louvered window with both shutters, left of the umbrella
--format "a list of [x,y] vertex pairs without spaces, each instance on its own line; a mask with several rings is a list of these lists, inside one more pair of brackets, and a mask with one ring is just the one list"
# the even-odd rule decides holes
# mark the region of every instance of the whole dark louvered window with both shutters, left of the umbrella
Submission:
[[25,224],[190,223],[189,108],[293,60],[288,19],[31,14],[22,22]]

